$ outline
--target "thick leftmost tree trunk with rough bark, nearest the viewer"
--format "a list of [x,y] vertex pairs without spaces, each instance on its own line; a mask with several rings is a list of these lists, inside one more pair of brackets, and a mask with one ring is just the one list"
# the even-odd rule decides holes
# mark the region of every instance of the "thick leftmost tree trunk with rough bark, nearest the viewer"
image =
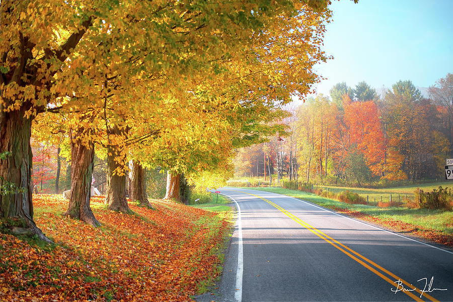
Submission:
[[[33,220],[31,187],[32,151],[30,147],[31,118],[25,118],[24,106],[20,110],[3,112],[0,104],[0,217],[6,226],[16,226],[14,234],[37,235],[51,242],[36,226]],[[2,190],[3,191],[3,190]],[[11,223],[10,225],[10,222]],[[19,222],[19,223],[18,223]],[[15,224],[15,225],[13,225]],[[17,227],[17,224],[21,226]]]

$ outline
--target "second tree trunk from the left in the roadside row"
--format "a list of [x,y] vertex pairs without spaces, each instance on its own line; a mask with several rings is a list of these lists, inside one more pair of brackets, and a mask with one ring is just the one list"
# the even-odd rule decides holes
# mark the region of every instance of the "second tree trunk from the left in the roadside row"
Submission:
[[71,198],[63,215],[100,226],[90,208],[93,158],[94,143],[90,141],[88,146],[83,144],[78,134],[71,131]]

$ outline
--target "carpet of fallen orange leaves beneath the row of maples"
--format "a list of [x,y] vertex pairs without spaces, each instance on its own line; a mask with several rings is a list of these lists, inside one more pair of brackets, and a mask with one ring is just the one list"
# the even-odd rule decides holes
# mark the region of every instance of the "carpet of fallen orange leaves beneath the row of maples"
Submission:
[[[217,244],[229,232],[195,223],[216,213],[172,201],[156,210],[129,204],[136,215],[112,212],[93,197],[101,228],[44,212],[36,223],[57,246],[42,250],[0,235],[0,300],[187,301],[197,284],[215,275]],[[36,208],[63,207],[60,195],[35,195]],[[208,236],[210,232],[210,235]]]

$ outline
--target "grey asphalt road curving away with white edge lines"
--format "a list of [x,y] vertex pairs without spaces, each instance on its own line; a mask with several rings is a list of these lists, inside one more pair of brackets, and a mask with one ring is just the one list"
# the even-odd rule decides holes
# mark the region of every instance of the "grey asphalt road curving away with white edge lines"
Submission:
[[215,301],[453,301],[453,253],[310,202],[223,188],[238,208]]

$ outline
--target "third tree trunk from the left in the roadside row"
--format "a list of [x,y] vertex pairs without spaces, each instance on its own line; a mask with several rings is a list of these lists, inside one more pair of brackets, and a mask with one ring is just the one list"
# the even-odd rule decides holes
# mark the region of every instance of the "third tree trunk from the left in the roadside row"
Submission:
[[[126,174],[118,175],[116,171],[121,165],[115,161],[119,157],[118,149],[114,146],[107,147],[107,188],[105,190],[105,203],[109,210],[130,213],[126,199]],[[129,193],[130,194],[130,193]]]

